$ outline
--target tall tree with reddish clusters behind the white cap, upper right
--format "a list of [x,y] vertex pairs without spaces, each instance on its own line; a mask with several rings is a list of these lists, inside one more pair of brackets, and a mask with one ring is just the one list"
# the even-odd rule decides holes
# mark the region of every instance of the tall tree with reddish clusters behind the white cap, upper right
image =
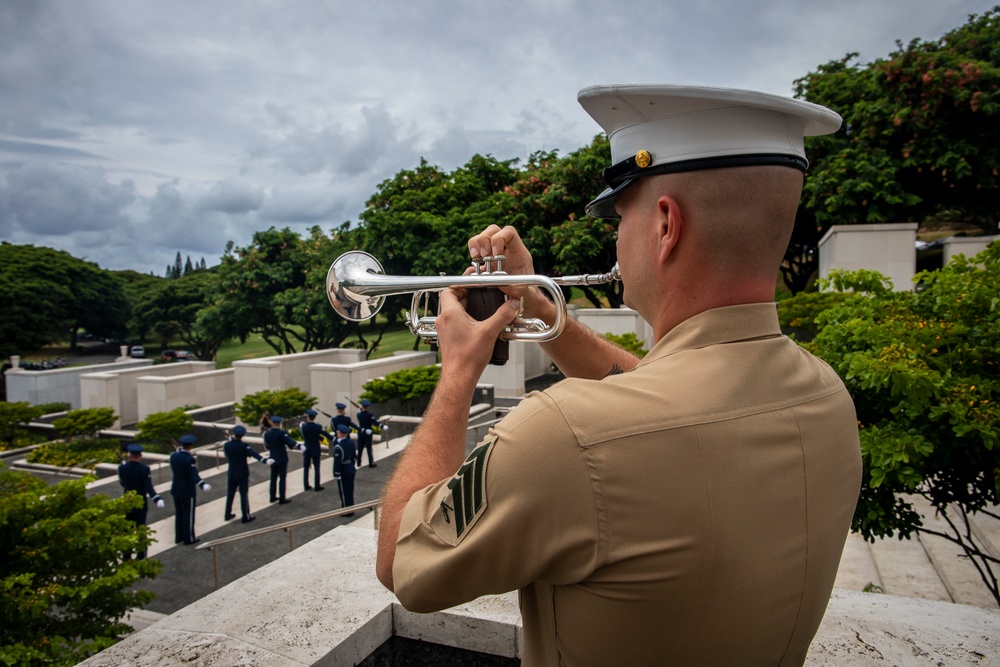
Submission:
[[1000,7],[934,41],[868,65],[856,53],[795,82],[797,97],[844,117],[807,146],[785,282],[805,288],[816,246],[836,224],[944,218],[995,233],[1000,220]]

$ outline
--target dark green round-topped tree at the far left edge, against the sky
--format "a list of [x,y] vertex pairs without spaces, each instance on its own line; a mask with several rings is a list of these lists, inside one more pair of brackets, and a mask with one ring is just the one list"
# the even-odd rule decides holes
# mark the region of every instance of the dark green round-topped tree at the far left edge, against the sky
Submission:
[[120,338],[128,321],[121,283],[92,262],[32,245],[0,244],[0,356],[68,341],[76,333]]

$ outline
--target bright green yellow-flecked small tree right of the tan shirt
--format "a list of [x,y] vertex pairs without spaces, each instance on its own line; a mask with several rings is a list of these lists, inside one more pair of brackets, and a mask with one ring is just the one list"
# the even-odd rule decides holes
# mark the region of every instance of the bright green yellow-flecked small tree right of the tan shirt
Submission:
[[[857,407],[864,484],[853,528],[870,540],[921,531],[954,542],[1000,603],[1000,560],[969,528],[1000,501],[1000,243],[914,280],[920,289],[894,292],[873,271],[834,273],[843,300],[805,345]],[[923,526],[910,494],[950,531]]]

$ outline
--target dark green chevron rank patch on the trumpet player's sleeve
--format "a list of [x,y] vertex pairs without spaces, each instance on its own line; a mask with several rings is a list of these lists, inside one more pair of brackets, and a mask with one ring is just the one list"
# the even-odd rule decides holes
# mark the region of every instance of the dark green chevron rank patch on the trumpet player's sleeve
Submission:
[[444,489],[440,509],[431,521],[445,542],[458,544],[486,511],[486,464],[496,437],[472,450]]

